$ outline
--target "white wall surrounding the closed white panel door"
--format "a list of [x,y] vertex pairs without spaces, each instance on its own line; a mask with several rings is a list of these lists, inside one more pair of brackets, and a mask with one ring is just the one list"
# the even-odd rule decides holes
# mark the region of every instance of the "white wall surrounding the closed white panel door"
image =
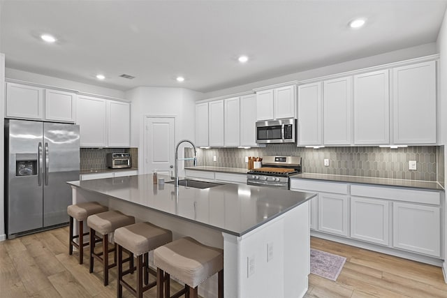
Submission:
[[[126,99],[130,99],[132,102],[131,147],[138,147],[140,173],[145,169],[143,158],[145,116],[175,116],[175,142],[182,139],[194,141],[195,103],[201,96],[203,94],[199,92],[183,88],[138,87],[126,92]],[[182,150],[179,152],[182,156]],[[179,163],[179,173],[182,174],[182,163]]]

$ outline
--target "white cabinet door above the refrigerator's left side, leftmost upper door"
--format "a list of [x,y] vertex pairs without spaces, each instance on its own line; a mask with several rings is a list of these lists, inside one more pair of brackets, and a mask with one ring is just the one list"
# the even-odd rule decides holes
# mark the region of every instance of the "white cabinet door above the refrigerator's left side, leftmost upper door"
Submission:
[[43,119],[43,89],[6,83],[6,117]]

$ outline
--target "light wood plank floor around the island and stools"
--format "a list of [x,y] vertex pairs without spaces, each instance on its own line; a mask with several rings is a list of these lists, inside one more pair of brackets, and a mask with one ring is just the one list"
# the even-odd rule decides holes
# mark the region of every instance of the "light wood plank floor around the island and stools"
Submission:
[[[67,238],[65,227],[0,242],[0,297],[116,297],[116,269],[104,287],[101,266],[89,274],[88,258],[79,265],[77,253],[68,255]],[[311,274],[307,298],[447,297],[439,267],[323,239],[311,242],[312,248],[347,260],[336,282]],[[131,295],[124,290],[124,297]],[[156,297],[155,289],[145,297]]]

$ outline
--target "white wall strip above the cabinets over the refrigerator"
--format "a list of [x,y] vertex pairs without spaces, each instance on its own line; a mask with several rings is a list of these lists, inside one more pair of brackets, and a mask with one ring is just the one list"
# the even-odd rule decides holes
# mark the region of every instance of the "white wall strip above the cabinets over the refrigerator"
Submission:
[[110,96],[124,99],[124,91],[121,90],[99,87],[91,84],[83,84],[71,80],[59,79],[57,77],[40,75],[38,73],[29,73],[27,71],[17,70],[13,68],[6,68],[5,73],[6,73],[5,76],[8,79],[22,80],[26,82],[33,82],[48,86],[82,91],[90,94],[98,94],[103,96]]

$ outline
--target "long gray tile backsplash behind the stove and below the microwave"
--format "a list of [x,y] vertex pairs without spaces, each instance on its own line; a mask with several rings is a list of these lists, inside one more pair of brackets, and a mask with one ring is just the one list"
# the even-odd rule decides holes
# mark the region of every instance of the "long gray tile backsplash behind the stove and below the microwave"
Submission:
[[[192,149],[185,148],[187,156]],[[362,177],[444,181],[444,146],[411,146],[390,149],[381,147],[296,147],[296,144],[267,144],[265,148],[198,149],[198,165],[247,167],[245,156],[301,156],[302,171]],[[213,161],[216,156],[217,161]],[[323,160],[329,159],[329,166]],[[442,161],[441,161],[442,160]],[[416,161],[417,170],[409,170]],[[186,166],[192,164],[187,163]],[[441,179],[440,179],[441,178]]]

